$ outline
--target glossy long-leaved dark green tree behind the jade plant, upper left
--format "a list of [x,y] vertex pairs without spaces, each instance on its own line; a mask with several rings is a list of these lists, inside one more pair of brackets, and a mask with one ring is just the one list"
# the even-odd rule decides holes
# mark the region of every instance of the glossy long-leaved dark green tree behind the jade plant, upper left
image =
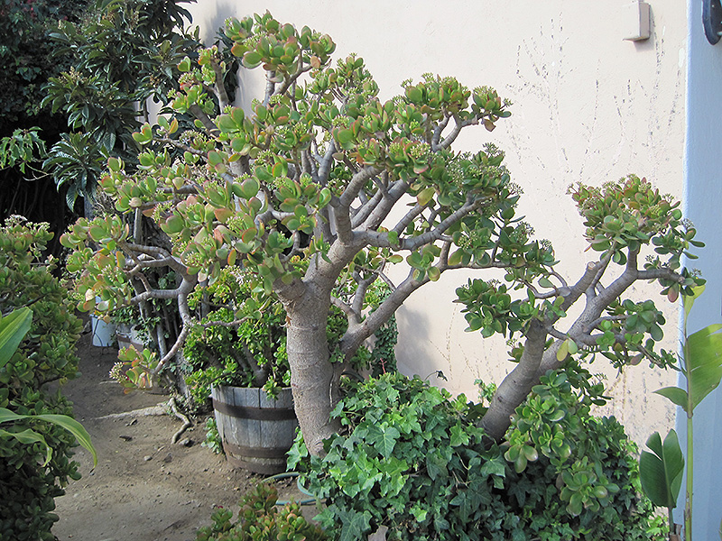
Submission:
[[147,117],[146,100],[167,101],[177,87],[176,64],[197,45],[182,31],[190,13],[181,5],[191,1],[101,0],[82,23],[61,23],[51,33],[55,55],[72,66],[50,78],[42,105],[67,115],[76,133],[63,135],[44,167],[68,188],[69,206],[92,193],[109,154],[135,162],[131,133],[139,116]]

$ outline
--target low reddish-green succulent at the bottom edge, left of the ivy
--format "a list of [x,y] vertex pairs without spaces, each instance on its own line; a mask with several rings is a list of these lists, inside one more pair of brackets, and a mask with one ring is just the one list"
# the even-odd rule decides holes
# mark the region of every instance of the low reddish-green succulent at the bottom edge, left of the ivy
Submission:
[[292,502],[276,509],[278,493],[273,485],[260,483],[241,500],[236,523],[233,512],[218,509],[213,526],[199,528],[196,541],[322,541],[323,531],[301,515],[301,506]]

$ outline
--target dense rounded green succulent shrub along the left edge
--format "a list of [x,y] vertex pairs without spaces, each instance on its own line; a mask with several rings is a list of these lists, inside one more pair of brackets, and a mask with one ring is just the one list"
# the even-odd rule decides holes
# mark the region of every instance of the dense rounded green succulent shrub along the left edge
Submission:
[[[73,314],[67,290],[52,277],[52,264],[35,264],[50,240],[47,225],[10,220],[0,228],[0,309],[4,313],[28,306],[32,327],[10,362],[0,369],[0,408],[20,415],[71,415],[67,399],[47,383],[77,375],[75,343],[81,324]],[[69,479],[78,479],[70,461],[74,436],[60,426],[17,421],[10,430],[32,428],[52,448],[50,463],[42,445],[24,445],[14,438],[0,439],[0,539],[53,539],[53,498],[63,493]]]

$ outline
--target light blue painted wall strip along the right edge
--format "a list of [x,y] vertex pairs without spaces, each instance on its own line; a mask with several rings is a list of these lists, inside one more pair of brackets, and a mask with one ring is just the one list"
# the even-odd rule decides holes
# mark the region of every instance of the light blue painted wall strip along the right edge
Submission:
[[[701,1],[688,1],[687,133],[685,142],[685,215],[707,244],[690,266],[702,271],[707,289],[690,315],[690,333],[722,321],[722,41],[712,46],[701,23]],[[715,541],[722,520],[722,390],[717,389],[694,415],[695,540]],[[685,448],[686,417],[677,420]],[[676,515],[682,521],[684,485]]]

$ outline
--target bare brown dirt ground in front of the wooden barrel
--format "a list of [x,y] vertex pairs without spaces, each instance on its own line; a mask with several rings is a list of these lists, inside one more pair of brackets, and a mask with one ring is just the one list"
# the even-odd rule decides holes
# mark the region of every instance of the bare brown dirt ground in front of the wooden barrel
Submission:
[[[125,395],[108,377],[116,350],[91,345],[88,334],[78,353],[82,375],[63,392],[88,429],[98,462],[91,470],[90,454],[78,447],[82,478],[70,481],[55,500],[60,521],[52,531],[60,541],[193,541],[214,509],[235,512],[243,493],[263,479],[201,447],[205,418],[191,419],[193,426],[180,437],[190,440],[185,446],[171,443],[182,425],[177,417],[126,414],[167,403],[168,397]],[[298,498],[292,482],[283,481],[279,491]]]

